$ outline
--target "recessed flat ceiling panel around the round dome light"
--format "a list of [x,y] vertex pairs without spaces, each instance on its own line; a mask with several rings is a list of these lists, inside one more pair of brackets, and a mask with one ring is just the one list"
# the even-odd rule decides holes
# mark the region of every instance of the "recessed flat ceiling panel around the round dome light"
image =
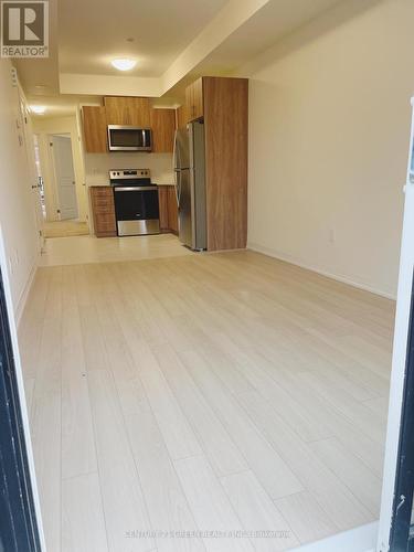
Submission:
[[[128,76],[160,76],[226,0],[62,0],[62,73],[119,75],[114,57],[136,57]],[[127,39],[134,39],[128,42]]]

